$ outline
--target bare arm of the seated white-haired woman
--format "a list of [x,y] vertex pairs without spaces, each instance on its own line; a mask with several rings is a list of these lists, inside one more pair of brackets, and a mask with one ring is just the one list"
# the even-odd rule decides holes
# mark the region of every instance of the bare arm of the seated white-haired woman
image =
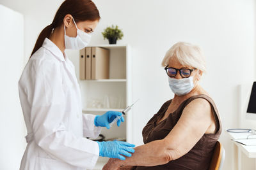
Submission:
[[120,166],[157,166],[178,159],[195,146],[214,122],[211,105],[205,99],[195,99],[183,110],[172,131],[161,140],[138,146],[132,157],[110,159],[104,169]]

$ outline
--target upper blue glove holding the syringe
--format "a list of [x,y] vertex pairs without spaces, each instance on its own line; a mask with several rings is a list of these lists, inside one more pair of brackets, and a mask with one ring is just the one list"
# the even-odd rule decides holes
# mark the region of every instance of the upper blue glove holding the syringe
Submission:
[[94,124],[95,126],[100,126],[100,127],[107,127],[107,129],[110,128],[110,123],[113,122],[113,120],[117,117],[120,116],[121,118],[117,120],[116,124],[117,126],[120,126],[121,122],[124,122],[124,117],[122,117],[122,113],[118,111],[107,111],[104,113],[104,115],[97,115],[94,118]]

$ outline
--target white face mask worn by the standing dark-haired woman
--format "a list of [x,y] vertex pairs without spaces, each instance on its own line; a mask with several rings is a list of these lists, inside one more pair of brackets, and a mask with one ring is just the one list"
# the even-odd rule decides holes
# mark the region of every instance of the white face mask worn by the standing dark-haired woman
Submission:
[[[76,25],[76,22],[74,18],[72,18],[74,21],[74,24]],[[84,31],[81,31],[77,28],[77,36],[76,37],[69,37],[66,35],[66,29],[64,25],[64,39],[65,39],[65,48],[66,49],[72,49],[72,50],[81,50],[82,48],[88,46],[88,43],[90,42],[91,36],[87,34]]]

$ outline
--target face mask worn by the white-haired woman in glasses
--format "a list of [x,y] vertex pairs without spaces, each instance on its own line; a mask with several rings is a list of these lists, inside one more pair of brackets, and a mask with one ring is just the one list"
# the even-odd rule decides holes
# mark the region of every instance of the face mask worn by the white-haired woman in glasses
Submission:
[[182,79],[176,79],[176,78],[170,78],[170,77],[168,78],[169,78],[170,89],[177,96],[184,96],[194,88],[193,76],[190,76],[189,78],[182,78]]

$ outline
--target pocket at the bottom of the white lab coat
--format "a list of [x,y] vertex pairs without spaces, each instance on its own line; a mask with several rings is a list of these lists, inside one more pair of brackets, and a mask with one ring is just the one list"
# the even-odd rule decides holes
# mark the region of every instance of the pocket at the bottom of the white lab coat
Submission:
[[56,159],[37,157],[37,169],[38,170],[71,170],[72,167],[65,162]]

